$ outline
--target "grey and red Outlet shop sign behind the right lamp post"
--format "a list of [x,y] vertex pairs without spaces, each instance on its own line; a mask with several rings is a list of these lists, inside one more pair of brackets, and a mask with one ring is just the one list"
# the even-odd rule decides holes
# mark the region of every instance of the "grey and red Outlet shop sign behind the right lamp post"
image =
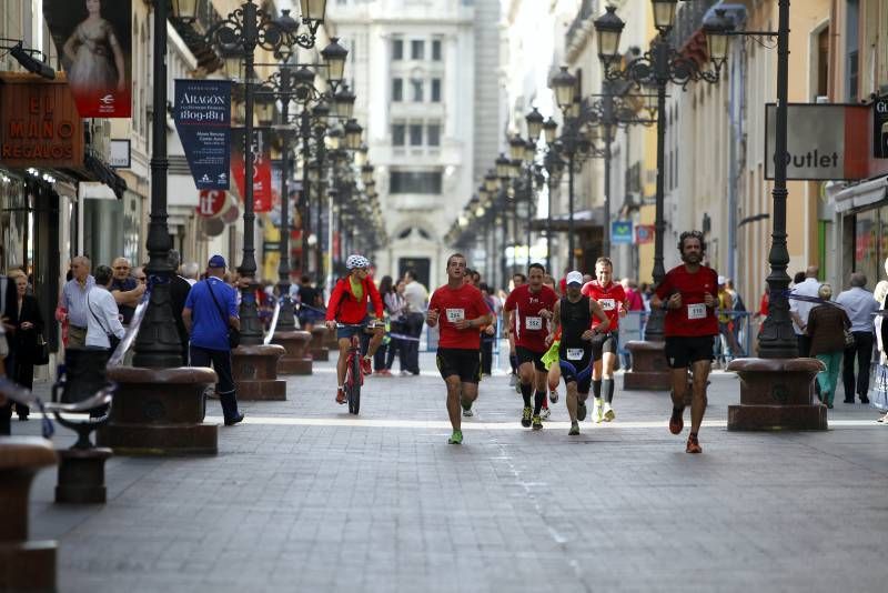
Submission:
[[[869,107],[837,103],[787,105],[786,178],[855,180],[868,177]],[[765,179],[774,179],[777,105],[765,111]]]

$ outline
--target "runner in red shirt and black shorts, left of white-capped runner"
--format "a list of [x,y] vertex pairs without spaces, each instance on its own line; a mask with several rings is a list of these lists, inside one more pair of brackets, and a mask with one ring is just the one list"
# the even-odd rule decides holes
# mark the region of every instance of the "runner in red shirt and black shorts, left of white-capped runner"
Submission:
[[[543,428],[539,415],[546,401],[546,368],[541,360],[546,353],[546,335],[548,320],[558,296],[555,291],[543,285],[546,269],[539,263],[532,263],[527,269],[528,282],[509,293],[503,308],[508,312],[508,326],[515,335],[515,355],[518,362],[521,395],[524,399],[522,426],[533,425],[535,431]],[[534,406],[531,408],[531,392],[534,393]]]

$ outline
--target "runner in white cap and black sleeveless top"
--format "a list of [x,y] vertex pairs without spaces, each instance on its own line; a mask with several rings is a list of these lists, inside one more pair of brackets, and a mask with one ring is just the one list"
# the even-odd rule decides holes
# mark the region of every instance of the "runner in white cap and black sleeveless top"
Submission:
[[[577,420],[586,418],[586,398],[592,382],[592,339],[607,332],[610,321],[595,299],[581,292],[583,274],[573,271],[565,281],[566,294],[555,303],[553,332],[546,338],[551,343],[558,328],[562,330],[558,365],[567,388],[567,413],[571,415],[571,436],[579,434]],[[592,318],[601,323],[592,329]]]

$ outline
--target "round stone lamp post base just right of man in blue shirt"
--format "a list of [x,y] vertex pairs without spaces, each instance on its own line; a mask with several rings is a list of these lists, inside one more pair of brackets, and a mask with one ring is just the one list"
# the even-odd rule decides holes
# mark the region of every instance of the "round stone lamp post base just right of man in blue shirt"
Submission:
[[238,400],[286,400],[286,381],[278,379],[278,360],[284,352],[278,344],[242,345],[231,351]]

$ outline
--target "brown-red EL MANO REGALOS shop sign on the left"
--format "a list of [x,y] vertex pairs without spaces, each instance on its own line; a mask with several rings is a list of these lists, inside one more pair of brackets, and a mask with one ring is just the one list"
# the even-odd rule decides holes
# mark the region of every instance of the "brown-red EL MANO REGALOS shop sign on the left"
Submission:
[[64,82],[0,79],[0,162],[16,168],[83,167],[83,123]]

